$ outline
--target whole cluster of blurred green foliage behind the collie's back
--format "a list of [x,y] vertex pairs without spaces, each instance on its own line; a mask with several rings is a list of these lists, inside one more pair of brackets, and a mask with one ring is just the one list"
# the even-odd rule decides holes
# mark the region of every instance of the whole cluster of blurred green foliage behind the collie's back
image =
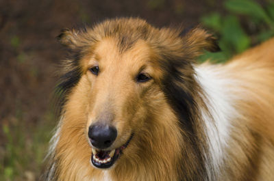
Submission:
[[[222,52],[206,52],[199,61],[211,59],[223,62],[234,54],[242,53],[251,44],[258,44],[274,36],[274,3],[270,2],[262,8],[253,0],[226,0],[223,5],[229,12],[226,16],[213,12],[201,18],[205,27],[219,34]],[[245,26],[242,21],[245,21]],[[250,32],[247,25],[256,27],[256,31]]]

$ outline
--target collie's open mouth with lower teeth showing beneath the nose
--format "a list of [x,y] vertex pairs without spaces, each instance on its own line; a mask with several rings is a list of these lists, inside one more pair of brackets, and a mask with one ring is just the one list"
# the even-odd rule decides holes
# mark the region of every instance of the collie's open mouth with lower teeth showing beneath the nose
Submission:
[[123,154],[123,150],[127,148],[127,145],[132,140],[134,134],[132,134],[127,142],[123,144],[121,147],[116,148],[114,150],[97,150],[92,148],[91,154],[91,163],[95,167],[99,169],[108,169],[110,168],[115,161]]

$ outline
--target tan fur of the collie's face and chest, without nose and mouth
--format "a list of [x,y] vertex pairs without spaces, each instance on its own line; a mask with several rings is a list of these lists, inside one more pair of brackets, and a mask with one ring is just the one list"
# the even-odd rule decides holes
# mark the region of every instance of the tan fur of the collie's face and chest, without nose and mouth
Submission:
[[[164,100],[164,96],[161,94],[159,88],[153,87],[149,96],[157,101],[154,103],[155,105],[149,106],[158,107],[158,112],[153,113],[153,115],[147,115],[150,122],[145,122],[146,120],[143,120],[142,117],[147,114],[145,113],[145,109],[149,109],[149,107],[146,107],[147,102],[138,103],[140,98],[136,97],[136,94],[144,94],[142,93],[142,85],[136,85],[134,82],[135,75],[138,73],[140,67],[146,65],[147,72],[150,72],[151,76],[155,78],[159,76],[159,70],[153,72],[153,63],[147,64],[147,61],[149,61],[149,48],[144,42],[137,42],[132,51],[125,53],[122,57],[116,49],[116,42],[111,38],[107,38],[97,45],[95,53],[98,55],[97,59],[95,60],[95,57],[90,57],[88,64],[92,65],[95,61],[101,63],[100,59],[104,59],[104,62],[100,66],[101,71],[105,71],[105,73],[102,73],[103,76],[101,79],[98,78],[96,80],[98,82],[92,82],[93,84],[97,84],[97,87],[90,94],[88,92],[90,86],[92,86],[91,81],[95,81],[95,76],[86,70],[86,74],[84,74],[77,87],[73,90],[69,102],[67,102],[64,108],[66,113],[64,113],[62,124],[62,136],[57,147],[57,157],[62,159],[60,161],[62,169],[60,170],[58,180],[84,180],[86,173],[89,173],[95,179],[102,177],[101,171],[94,169],[90,165],[91,152],[87,144],[86,128],[92,123],[92,120],[95,120],[95,117],[104,116],[101,114],[103,114],[102,112],[105,109],[116,110],[114,124],[121,134],[113,145],[114,148],[123,145],[127,141],[130,136],[131,126],[138,128],[138,124],[147,124],[142,126],[146,128],[145,130],[143,130],[144,128],[136,130],[136,132],[142,134],[143,138],[134,138],[132,140],[131,146],[125,150],[124,155],[119,161],[123,164],[116,165],[115,169],[110,172],[114,180],[115,178],[116,180],[177,180],[177,168],[175,167],[177,164],[169,161],[169,159],[177,160],[180,157],[179,141],[173,141],[174,139],[180,139],[175,115],[166,106],[166,100]],[[136,59],[136,61],[127,61],[129,58]],[[121,68],[126,71],[121,71]],[[151,70],[152,68],[153,70]],[[124,81],[125,79],[129,81]],[[125,84],[121,84],[123,82]],[[105,87],[105,85],[108,85],[108,87]],[[132,92],[133,88],[136,89],[137,93]],[[93,96],[94,94],[96,96]],[[129,100],[132,100],[132,102],[129,102]],[[78,102],[82,102],[82,104]],[[91,102],[96,103],[91,104]],[[130,108],[132,107],[131,105],[137,104],[141,104],[138,105],[140,112],[134,113],[134,110]],[[125,112],[120,112],[123,110]],[[132,117],[133,115],[134,117]],[[75,122],[75,120],[77,121]],[[162,122],[155,123],[153,120],[162,120]],[[166,122],[165,120],[170,121]],[[155,127],[154,124],[158,124],[158,126]],[[157,133],[158,137],[154,137],[151,133]],[[68,140],[68,137],[71,139]],[[165,139],[162,139],[163,137]],[[146,143],[145,141],[153,141],[153,143]],[[166,149],[166,145],[171,146],[172,149]],[[138,148],[142,151],[138,151]],[[160,150],[161,152],[153,150]],[[127,152],[129,153],[128,155]],[[135,153],[135,155],[132,153]],[[151,158],[150,162],[142,163],[142,156]],[[75,163],[74,159],[77,159],[79,163]],[[159,164],[158,160],[162,160],[162,164]],[[73,163],[70,163],[72,161]],[[140,165],[140,170],[134,170],[135,165]],[[158,170],[156,174],[155,170]],[[151,175],[152,173],[153,175]],[[92,178],[89,179],[92,180]]]

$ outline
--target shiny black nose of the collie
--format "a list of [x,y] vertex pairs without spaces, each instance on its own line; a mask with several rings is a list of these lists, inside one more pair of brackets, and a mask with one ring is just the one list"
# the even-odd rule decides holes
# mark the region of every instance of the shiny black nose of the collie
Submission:
[[109,125],[93,125],[88,129],[88,137],[93,146],[99,149],[109,148],[117,137],[117,130]]

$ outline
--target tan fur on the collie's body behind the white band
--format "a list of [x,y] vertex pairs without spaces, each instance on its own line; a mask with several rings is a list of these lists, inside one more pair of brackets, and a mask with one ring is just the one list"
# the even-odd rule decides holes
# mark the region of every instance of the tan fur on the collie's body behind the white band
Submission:
[[[227,180],[274,180],[274,39],[223,66],[238,81]],[[245,169],[244,169],[245,168]]]

